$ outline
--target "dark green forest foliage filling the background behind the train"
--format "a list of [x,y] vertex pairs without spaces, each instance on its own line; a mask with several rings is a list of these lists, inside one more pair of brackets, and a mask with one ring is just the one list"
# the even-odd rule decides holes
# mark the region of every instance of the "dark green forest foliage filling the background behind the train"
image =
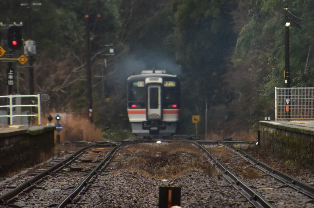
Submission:
[[[44,112],[84,115],[84,0],[40,2],[30,10],[20,5],[22,0],[3,0],[0,22],[23,22],[23,39],[36,41],[35,93],[51,96]],[[198,129],[204,133],[205,102],[210,132],[228,136],[256,130],[259,120],[274,118],[274,88],[284,86],[285,4],[290,85],[313,87],[312,0],[89,0],[95,125],[104,132],[130,129],[126,79],[156,68],[181,78],[180,133],[195,132],[192,115],[201,115]],[[0,29],[5,40],[6,30]],[[108,45],[115,49],[113,56],[106,55]],[[0,66],[5,95],[7,65]],[[14,93],[28,94],[28,70],[16,66],[19,87]]]

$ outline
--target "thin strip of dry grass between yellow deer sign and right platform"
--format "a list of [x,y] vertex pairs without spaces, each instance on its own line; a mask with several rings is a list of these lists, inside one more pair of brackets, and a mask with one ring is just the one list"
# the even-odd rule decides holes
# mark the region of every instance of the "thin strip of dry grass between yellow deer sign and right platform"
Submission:
[[208,134],[206,140],[220,141],[224,137],[231,137],[235,141],[257,141],[257,133],[247,131],[237,131],[231,135],[226,136],[225,134]]

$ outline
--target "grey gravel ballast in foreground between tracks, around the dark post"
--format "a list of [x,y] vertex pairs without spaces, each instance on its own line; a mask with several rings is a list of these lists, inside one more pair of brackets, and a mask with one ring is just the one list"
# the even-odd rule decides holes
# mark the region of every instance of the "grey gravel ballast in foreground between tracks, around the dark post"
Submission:
[[[103,178],[104,177],[104,178]],[[220,177],[219,177],[220,178]],[[123,171],[117,175],[102,176],[97,186],[90,188],[82,198],[82,207],[158,207],[160,186],[181,187],[182,207],[248,207],[250,203],[217,175],[208,177],[192,172],[180,178],[162,181]],[[101,185],[98,187],[98,185]]]

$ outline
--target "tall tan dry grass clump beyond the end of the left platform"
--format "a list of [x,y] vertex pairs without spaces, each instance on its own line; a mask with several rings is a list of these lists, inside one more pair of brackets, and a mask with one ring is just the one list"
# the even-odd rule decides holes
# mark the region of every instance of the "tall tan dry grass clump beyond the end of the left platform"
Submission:
[[[59,114],[63,129],[59,132],[60,142],[64,141],[102,141],[100,129],[97,129],[88,118],[81,115],[65,114],[52,112],[50,115],[53,117],[52,123],[57,123],[55,117]],[[48,115],[41,116],[42,125],[48,123]],[[57,132],[55,132],[56,138]]]

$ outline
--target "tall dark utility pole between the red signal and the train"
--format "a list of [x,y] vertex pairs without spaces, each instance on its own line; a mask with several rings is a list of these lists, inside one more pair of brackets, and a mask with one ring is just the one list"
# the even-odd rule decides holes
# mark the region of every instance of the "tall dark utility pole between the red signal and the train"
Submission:
[[89,24],[88,24],[88,1],[84,1],[84,18],[85,18],[85,51],[86,51],[86,97],[87,97],[87,107],[89,110],[89,119],[93,123],[93,100],[92,100],[92,79],[91,79],[91,69],[90,69],[90,50],[89,50]]

